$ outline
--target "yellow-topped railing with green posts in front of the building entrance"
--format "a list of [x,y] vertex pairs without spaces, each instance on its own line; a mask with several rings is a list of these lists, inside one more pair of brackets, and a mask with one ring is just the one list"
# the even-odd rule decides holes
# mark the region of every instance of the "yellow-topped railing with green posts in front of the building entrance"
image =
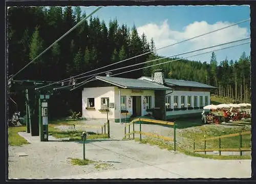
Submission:
[[[135,129],[134,129],[134,124],[136,122],[139,122],[140,131],[135,131]],[[174,126],[174,138],[171,138],[168,136],[163,136],[163,135],[158,135],[158,134],[153,134],[150,132],[143,132],[143,131],[141,131],[141,123],[142,122],[150,122],[150,123],[156,123],[156,124],[162,124],[162,125],[173,125]],[[131,131],[131,125],[133,125],[133,131]],[[128,133],[126,133],[127,127],[128,127]],[[135,139],[135,137],[134,137],[135,133],[140,134],[140,141],[141,141],[141,135],[156,137],[156,138],[162,139],[164,141],[173,141],[174,142],[174,151],[176,151],[176,124],[174,122],[138,118],[124,126],[124,139],[126,139],[126,136],[129,136],[129,139],[130,139],[130,135],[133,135],[133,139]]]

